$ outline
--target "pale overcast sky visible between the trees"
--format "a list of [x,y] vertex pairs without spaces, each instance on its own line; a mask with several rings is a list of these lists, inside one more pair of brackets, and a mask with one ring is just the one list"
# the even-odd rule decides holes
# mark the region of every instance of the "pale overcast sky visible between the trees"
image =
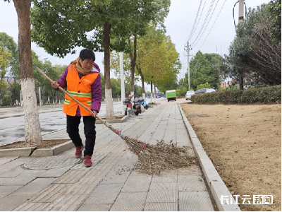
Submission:
[[[202,5],[200,7],[200,3]],[[168,17],[165,20],[166,35],[171,36],[172,42],[176,45],[176,50],[180,54],[180,61],[183,64],[183,69],[180,71],[178,79],[183,78],[187,72],[188,57],[187,52],[184,51],[187,44],[197,12],[200,7],[200,13],[197,17],[194,35],[190,38],[190,45],[192,50],[191,56],[195,55],[198,51],[203,53],[218,53],[228,54],[228,47],[235,37],[235,26],[233,20],[233,7],[238,0],[171,0],[171,8]],[[270,0],[245,0],[247,8],[256,8],[261,4],[267,4]],[[212,2],[214,2],[212,6]],[[211,7],[212,6],[212,7]],[[12,3],[0,0],[0,33],[7,33],[18,42],[18,17],[16,8]],[[209,12],[209,9],[210,13]],[[202,16],[200,16],[202,14]],[[207,16],[209,14],[209,16]],[[203,25],[207,17],[206,24]],[[235,21],[238,23],[238,4],[235,7]],[[198,24],[197,24],[198,23]],[[196,26],[195,25],[195,26]],[[200,33],[202,29],[202,33]],[[199,36],[198,36],[199,35]],[[196,40],[197,39],[197,40]],[[79,56],[82,47],[77,47],[75,55],[68,54],[65,58],[52,57],[47,54],[43,48],[37,47],[32,43],[32,50],[37,53],[39,59],[48,59],[52,64],[68,65],[71,61]],[[95,52],[97,57],[97,64],[104,73],[104,53]],[[111,73],[114,77],[114,73]],[[138,83],[141,86],[141,83]],[[149,86],[146,85],[149,90]]]

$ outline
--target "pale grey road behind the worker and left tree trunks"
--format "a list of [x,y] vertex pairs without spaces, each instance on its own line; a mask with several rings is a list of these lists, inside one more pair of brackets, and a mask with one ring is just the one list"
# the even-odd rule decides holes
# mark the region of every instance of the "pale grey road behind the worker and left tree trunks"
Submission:
[[[63,114],[62,107],[61,111],[52,112],[52,110],[60,110],[60,106],[39,108],[39,112],[43,112],[39,114],[42,135],[51,131],[66,129],[66,114]],[[0,119],[0,145],[25,139],[25,120],[20,115],[21,112],[23,112],[21,108],[0,109],[0,114],[5,114],[6,117],[9,114],[19,114],[18,117]],[[114,102],[114,112],[121,112],[121,103]],[[102,105],[99,116],[106,116],[106,105]]]

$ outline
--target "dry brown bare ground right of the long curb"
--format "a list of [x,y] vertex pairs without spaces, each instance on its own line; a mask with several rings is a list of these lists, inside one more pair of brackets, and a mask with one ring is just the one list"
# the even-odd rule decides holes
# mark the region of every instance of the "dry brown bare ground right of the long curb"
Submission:
[[[281,211],[281,105],[182,107],[240,208]],[[243,205],[244,195],[273,195],[274,204]]]

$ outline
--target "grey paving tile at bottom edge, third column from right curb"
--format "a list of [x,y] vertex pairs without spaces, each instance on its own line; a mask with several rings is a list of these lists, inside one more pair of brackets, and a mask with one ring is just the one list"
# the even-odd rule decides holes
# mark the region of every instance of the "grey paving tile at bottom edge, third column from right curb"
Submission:
[[110,211],[143,211],[147,192],[121,193]]

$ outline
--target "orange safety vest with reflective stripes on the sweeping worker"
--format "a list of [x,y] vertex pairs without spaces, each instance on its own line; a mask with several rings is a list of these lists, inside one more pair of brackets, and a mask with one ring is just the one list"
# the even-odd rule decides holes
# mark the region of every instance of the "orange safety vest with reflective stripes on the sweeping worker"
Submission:
[[[75,65],[73,65],[73,70],[71,70],[71,65],[68,66],[68,75],[66,76],[67,91],[90,110],[92,106],[92,84],[98,76],[99,73],[89,73],[86,76],[82,76],[80,79]],[[84,107],[78,105],[78,103],[72,100],[68,95],[65,96],[63,113],[75,117],[78,107],[80,107],[80,114],[82,117],[91,116],[90,112]]]

